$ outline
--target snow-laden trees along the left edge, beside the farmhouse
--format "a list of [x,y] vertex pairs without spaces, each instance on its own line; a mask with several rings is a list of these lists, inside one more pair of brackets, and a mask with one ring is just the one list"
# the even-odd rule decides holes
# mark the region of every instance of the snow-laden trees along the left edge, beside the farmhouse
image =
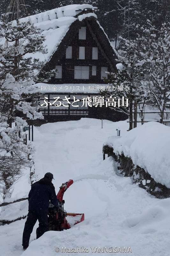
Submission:
[[[23,127],[28,119],[42,119],[33,102],[33,84],[43,63],[27,57],[28,53],[46,52],[44,37],[29,22],[0,22],[0,193],[12,193],[12,185],[22,175],[26,166],[33,168],[33,146],[26,145]],[[35,75],[35,70],[37,75]],[[47,76],[53,74],[47,72]],[[23,116],[23,117],[21,117]]]

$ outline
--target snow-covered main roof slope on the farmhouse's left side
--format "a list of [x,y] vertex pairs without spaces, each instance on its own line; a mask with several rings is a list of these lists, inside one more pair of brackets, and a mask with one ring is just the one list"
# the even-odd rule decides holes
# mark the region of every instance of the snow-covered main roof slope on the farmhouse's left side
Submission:
[[[70,25],[76,20],[82,21],[87,17],[93,16],[97,18],[96,14],[93,13],[95,9],[97,9],[97,7],[93,7],[90,4],[72,4],[21,18],[19,20],[20,22],[30,21],[34,26],[41,29],[41,35],[45,37],[43,45],[46,46],[48,51],[46,54],[41,52],[26,54],[26,58],[38,58],[41,61],[47,62],[62,42]],[[92,12],[82,13],[88,10]],[[5,44],[4,38],[0,38],[0,44]]]

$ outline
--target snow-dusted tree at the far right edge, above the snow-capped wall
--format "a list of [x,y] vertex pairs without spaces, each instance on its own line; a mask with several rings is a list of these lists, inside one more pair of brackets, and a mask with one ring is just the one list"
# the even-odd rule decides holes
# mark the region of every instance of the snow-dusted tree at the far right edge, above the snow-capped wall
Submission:
[[160,111],[163,123],[165,110],[170,98],[170,23],[165,22],[156,29],[147,20],[147,27],[141,28],[143,36],[138,36],[140,64],[146,70],[151,102]]

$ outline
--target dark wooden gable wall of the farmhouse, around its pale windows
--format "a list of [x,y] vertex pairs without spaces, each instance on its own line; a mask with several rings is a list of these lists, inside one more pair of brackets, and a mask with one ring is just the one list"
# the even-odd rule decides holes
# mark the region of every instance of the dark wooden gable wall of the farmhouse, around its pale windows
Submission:
[[[79,28],[86,27],[86,40],[80,40]],[[66,59],[66,48],[72,46],[72,58]],[[85,60],[79,59],[79,47],[85,47]],[[92,47],[98,47],[98,60],[92,60]],[[101,79],[101,67],[107,67],[108,71],[114,72],[115,70],[115,56],[112,47],[100,28],[97,20],[86,18],[80,22],[76,20],[70,26],[69,31],[58,46],[57,51],[44,67],[44,70],[55,69],[56,66],[62,66],[62,78],[53,78],[50,83],[104,83]],[[89,79],[75,79],[74,67],[75,66],[88,66]],[[92,66],[97,67],[96,76],[92,76]]]

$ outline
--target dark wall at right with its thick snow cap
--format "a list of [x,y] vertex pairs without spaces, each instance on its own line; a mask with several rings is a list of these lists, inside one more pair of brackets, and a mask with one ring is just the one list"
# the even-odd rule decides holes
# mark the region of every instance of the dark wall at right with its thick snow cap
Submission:
[[103,150],[109,152],[118,161],[119,169],[126,176],[132,176],[141,187],[151,194],[160,192],[159,195],[168,196],[170,127],[156,122],[146,123],[123,137],[109,137]]

